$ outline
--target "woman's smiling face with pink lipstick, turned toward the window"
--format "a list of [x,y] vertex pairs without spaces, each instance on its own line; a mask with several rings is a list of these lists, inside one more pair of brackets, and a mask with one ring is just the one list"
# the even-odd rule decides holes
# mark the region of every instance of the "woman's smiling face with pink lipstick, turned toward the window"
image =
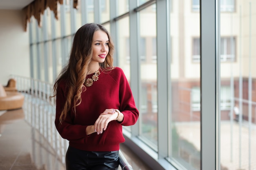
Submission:
[[92,41],[92,61],[103,63],[108,55],[108,34],[104,31],[98,30],[94,32]]

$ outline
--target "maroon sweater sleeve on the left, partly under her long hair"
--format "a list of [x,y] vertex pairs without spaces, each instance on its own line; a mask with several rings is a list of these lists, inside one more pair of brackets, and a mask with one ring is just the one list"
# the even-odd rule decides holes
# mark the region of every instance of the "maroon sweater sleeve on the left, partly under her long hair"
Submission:
[[63,106],[65,104],[66,92],[65,92],[65,83],[61,82],[58,86],[57,93],[56,93],[56,118],[55,118],[55,126],[58,130],[59,134],[63,139],[67,140],[76,140],[84,138],[86,135],[86,127],[87,125],[74,125],[72,122],[74,116],[67,113],[67,117],[65,120],[60,123],[60,116]]

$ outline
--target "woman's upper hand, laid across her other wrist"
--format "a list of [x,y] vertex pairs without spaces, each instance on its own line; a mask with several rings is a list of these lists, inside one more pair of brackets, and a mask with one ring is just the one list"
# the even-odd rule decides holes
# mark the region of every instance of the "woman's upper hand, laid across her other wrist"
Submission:
[[115,109],[106,109],[94,123],[95,132],[101,134],[103,130],[107,129],[108,123],[114,121],[118,116]]

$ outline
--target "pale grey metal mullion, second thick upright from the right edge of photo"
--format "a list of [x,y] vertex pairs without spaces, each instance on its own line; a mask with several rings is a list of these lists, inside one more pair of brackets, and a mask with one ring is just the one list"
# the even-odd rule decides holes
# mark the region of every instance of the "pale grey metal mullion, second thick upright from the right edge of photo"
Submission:
[[[170,80],[168,0],[157,0],[157,131],[158,157],[168,157],[168,80]],[[159,57],[161,56],[161,57]]]

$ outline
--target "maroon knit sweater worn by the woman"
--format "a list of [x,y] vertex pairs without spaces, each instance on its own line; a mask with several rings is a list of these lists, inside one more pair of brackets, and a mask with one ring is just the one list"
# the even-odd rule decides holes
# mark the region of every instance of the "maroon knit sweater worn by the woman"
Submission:
[[[119,143],[125,141],[122,125],[134,125],[139,111],[135,106],[129,83],[123,70],[119,67],[110,72],[100,70],[99,80],[82,92],[82,102],[74,110],[68,112],[67,118],[60,124],[59,118],[65,104],[67,91],[65,81],[58,85],[56,95],[55,125],[59,134],[70,141],[70,146],[86,151],[115,151]],[[87,76],[91,78],[93,74]],[[88,125],[94,125],[99,115],[106,109],[118,109],[124,114],[124,121],[111,121],[102,134],[85,134]]]

